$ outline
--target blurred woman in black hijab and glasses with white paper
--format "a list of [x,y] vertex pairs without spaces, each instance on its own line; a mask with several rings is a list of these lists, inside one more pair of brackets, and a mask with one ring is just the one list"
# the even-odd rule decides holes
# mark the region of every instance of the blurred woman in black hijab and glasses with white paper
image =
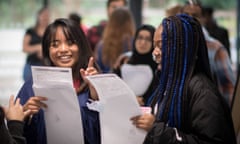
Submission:
[[[145,105],[148,101],[154,85],[157,69],[157,63],[152,58],[154,32],[152,25],[140,26],[133,38],[132,51],[120,55],[114,66],[114,73],[132,88],[140,105]],[[140,92],[139,87],[144,91]]]

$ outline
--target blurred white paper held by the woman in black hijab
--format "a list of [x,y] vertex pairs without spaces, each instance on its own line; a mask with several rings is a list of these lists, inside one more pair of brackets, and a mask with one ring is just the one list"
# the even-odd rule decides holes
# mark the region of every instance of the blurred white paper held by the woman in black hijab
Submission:
[[123,64],[121,66],[122,79],[133,90],[136,96],[142,96],[153,79],[153,73],[148,65]]

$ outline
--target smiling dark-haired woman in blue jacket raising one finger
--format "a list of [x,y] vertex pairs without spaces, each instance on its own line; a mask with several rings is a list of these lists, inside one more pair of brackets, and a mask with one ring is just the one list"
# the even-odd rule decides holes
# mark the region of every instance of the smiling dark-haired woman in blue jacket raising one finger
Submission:
[[[97,74],[92,51],[88,46],[84,32],[68,19],[56,19],[43,36],[43,58],[47,66],[70,67],[73,72],[73,84],[78,95],[81,110],[84,141],[86,144],[100,143],[98,112],[88,109],[89,99],[97,99],[95,90],[86,86],[85,76]],[[31,110],[33,117],[25,123],[24,135],[28,144],[46,144],[46,131],[43,107],[47,107],[44,96],[35,96],[32,79],[26,81],[17,97],[21,98],[24,110]]]

